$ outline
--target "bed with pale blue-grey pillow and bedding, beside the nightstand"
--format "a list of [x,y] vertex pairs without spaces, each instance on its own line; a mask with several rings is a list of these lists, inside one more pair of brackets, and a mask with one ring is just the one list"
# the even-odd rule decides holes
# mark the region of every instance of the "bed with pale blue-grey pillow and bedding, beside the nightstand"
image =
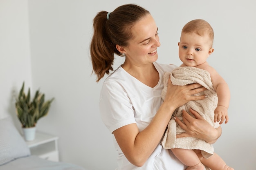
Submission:
[[31,155],[11,117],[0,119],[0,170],[86,170],[80,166],[49,161]]

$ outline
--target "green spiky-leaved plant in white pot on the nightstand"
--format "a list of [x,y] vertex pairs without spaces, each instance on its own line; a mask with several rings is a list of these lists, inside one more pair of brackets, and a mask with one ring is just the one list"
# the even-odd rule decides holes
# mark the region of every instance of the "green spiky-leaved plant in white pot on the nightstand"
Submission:
[[45,94],[37,90],[34,98],[30,100],[30,88],[26,95],[24,93],[24,84],[23,82],[15,106],[18,119],[22,124],[25,140],[32,141],[35,138],[37,121],[47,115],[54,98],[45,101]]

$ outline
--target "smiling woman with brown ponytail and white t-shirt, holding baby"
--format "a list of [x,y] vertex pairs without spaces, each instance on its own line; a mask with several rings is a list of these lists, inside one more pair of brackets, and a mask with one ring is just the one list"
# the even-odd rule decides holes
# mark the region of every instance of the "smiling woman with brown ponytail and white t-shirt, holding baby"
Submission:
[[[114,54],[125,56],[103,83],[100,110],[104,124],[115,136],[118,152],[117,170],[184,170],[171,150],[160,141],[173,111],[204,91],[199,84],[173,86],[168,82],[164,102],[161,99],[162,77],[174,65],[157,63],[160,46],[157,26],[149,11],[126,4],[113,12],[101,11],[94,18],[94,35],[90,46],[93,71],[97,82],[112,71]],[[214,129],[198,113],[195,118],[184,112],[184,123],[176,119],[185,133],[177,137],[198,137],[214,143],[221,128]]]

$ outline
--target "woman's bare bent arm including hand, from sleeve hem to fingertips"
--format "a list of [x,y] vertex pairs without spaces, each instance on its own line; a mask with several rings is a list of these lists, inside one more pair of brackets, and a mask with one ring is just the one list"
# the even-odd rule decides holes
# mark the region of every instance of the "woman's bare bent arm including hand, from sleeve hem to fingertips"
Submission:
[[188,101],[204,99],[204,96],[192,96],[204,90],[205,88],[199,84],[173,86],[169,80],[165,100],[144,130],[139,132],[136,124],[129,124],[115,130],[113,134],[117,143],[130,163],[143,166],[162,139],[174,110]]

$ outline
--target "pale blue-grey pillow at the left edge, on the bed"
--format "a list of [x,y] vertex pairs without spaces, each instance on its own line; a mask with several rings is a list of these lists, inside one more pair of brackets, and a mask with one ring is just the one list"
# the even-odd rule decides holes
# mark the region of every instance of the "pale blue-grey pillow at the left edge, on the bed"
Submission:
[[30,150],[10,118],[0,119],[0,166],[30,155]]

